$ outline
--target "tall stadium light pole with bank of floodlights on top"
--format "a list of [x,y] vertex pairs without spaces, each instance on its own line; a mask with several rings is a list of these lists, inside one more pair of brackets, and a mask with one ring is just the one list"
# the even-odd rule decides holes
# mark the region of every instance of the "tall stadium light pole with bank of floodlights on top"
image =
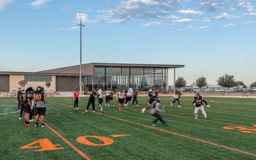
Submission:
[[79,76],[79,86],[80,86],[80,92],[82,92],[82,27],[85,27],[85,25],[82,25],[82,20],[87,20],[87,14],[83,14],[78,12],[77,13],[77,19],[80,19],[80,76]]

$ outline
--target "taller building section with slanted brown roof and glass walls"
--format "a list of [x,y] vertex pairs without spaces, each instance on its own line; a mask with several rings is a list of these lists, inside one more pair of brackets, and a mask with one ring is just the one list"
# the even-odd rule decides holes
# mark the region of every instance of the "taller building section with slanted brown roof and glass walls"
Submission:
[[[103,91],[108,88],[119,91],[133,88],[137,91],[160,90],[168,91],[168,70],[182,68],[184,65],[168,64],[110,64],[89,63],[82,64],[82,91],[93,88]],[[70,91],[70,87],[79,86],[80,65],[62,67],[59,69],[43,70],[40,74],[56,75],[56,90]],[[68,87],[70,86],[70,87]],[[71,87],[71,88],[72,88]]]

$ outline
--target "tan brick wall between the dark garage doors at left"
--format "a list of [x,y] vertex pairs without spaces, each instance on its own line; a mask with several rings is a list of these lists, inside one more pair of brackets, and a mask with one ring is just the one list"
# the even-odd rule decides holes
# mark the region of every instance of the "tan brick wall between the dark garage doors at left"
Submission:
[[[10,75],[10,91],[17,91],[18,88],[22,88],[18,82],[20,80],[24,80],[24,75]],[[51,77],[51,86],[49,86],[49,91],[56,91],[56,76]],[[47,86],[45,85],[46,82],[27,82],[27,86],[25,86],[26,89],[30,86],[32,86],[33,89],[36,89],[37,86],[42,86],[45,88],[45,91],[48,91]]]

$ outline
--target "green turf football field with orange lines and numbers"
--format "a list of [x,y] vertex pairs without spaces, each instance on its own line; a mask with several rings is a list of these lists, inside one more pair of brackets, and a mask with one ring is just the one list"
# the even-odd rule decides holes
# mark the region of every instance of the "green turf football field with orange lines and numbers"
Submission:
[[140,107],[118,112],[116,104],[103,114],[98,105],[85,112],[88,98],[79,110],[72,98],[48,98],[49,128],[36,128],[19,120],[16,98],[0,98],[0,159],[256,159],[256,99],[205,99],[207,119],[200,111],[194,119],[192,97],[182,97],[181,108],[162,97],[168,126],[151,127],[155,117],[141,113],[146,97]]

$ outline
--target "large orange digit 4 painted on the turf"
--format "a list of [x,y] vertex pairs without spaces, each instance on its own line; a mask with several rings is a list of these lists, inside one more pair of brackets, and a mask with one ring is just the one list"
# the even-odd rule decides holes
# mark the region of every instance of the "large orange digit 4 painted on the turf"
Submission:
[[[35,146],[35,144],[39,143],[39,145]],[[64,149],[62,147],[58,148],[57,146],[60,145],[53,145],[51,141],[48,138],[41,139],[34,141],[32,143],[29,143],[28,145],[22,146],[21,149],[32,149],[32,148],[41,148],[37,149],[36,151],[51,151],[51,150],[59,150]]]

